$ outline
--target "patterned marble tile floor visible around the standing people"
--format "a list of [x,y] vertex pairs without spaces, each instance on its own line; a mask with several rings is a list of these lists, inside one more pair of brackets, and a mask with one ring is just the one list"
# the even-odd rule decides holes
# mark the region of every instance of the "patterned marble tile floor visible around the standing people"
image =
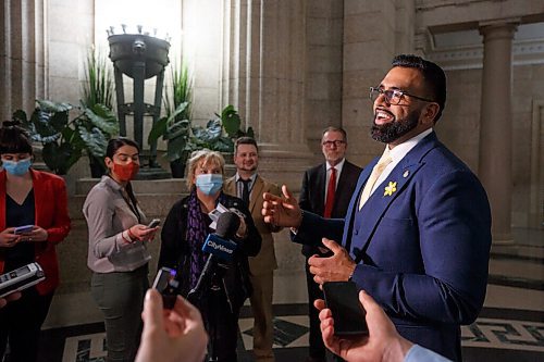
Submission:
[[[544,232],[522,232],[517,239],[523,241],[517,244],[515,253],[492,253],[485,307],[474,324],[462,327],[467,362],[544,361]],[[274,304],[277,362],[306,358],[306,311],[302,303]],[[250,308],[244,307],[239,361],[252,361],[251,327]],[[41,346],[40,362],[101,362],[106,355],[103,324],[46,329]]]

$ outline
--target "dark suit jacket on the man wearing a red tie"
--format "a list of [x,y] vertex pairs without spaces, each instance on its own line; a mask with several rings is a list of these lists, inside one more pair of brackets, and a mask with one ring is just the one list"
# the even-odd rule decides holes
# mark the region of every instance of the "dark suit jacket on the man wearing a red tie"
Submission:
[[[351,200],[351,195],[357,186],[357,179],[361,173],[361,167],[349,161],[344,162],[341,176],[334,192],[334,204],[331,217],[339,219],[346,216],[346,211]],[[326,188],[326,162],[311,167],[305,172],[300,198],[298,204],[300,209],[323,215],[325,211],[325,188]],[[317,247],[302,246],[302,254],[311,257],[322,254]]]

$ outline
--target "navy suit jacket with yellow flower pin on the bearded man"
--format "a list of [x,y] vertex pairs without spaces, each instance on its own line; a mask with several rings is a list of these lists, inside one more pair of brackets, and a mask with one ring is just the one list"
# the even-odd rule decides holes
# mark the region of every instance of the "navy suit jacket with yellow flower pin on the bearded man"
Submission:
[[359,211],[362,187],[376,162],[361,173],[345,220],[305,213],[294,240],[342,239],[358,263],[351,279],[382,304],[398,332],[461,360],[459,326],[477,319],[487,284],[491,211],[485,191],[432,133]]

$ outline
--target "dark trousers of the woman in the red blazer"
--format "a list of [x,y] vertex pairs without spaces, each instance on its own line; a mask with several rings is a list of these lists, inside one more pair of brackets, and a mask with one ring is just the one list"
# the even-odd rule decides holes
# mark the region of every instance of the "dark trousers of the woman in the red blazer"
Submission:
[[9,340],[7,362],[36,361],[41,325],[52,298],[53,292],[40,296],[36,288],[29,288],[23,291],[21,299],[9,302],[0,310],[0,360]]

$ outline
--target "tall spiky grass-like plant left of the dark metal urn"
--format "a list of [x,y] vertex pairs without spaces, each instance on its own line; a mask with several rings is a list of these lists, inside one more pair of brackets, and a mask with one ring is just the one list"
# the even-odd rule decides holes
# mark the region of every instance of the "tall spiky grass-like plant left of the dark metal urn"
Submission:
[[[110,111],[113,111],[113,92],[114,83],[111,68],[107,58],[91,47],[87,52],[87,59],[85,64],[85,82],[82,86],[83,99],[82,104],[86,108],[95,108],[96,104],[102,104]],[[87,128],[90,130],[90,125]],[[100,128],[101,133],[108,141],[114,134],[108,133],[108,127]],[[111,128],[112,132],[119,133],[119,125],[115,128]],[[97,152],[94,148],[88,148],[85,150],[87,157],[89,158],[89,166],[91,177],[100,177],[106,172],[106,164],[103,162],[103,151]]]

